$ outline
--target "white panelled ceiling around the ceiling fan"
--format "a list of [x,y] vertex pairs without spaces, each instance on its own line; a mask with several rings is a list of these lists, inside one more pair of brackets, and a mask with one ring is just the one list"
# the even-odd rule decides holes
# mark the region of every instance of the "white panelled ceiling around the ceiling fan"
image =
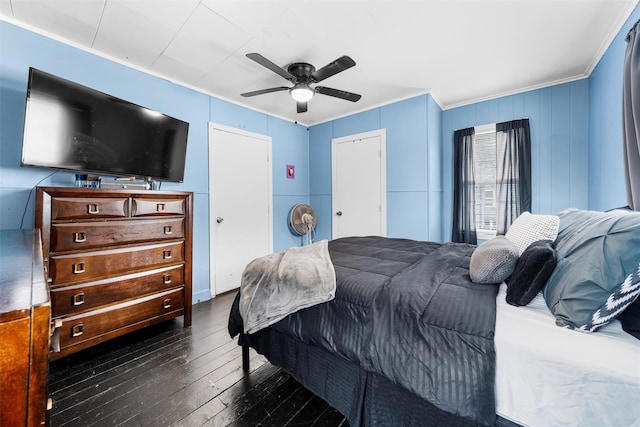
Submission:
[[[638,0],[0,0],[0,17],[153,75],[305,125],[430,92],[451,108],[588,76]],[[356,66],[296,113],[290,83],[245,55]]]

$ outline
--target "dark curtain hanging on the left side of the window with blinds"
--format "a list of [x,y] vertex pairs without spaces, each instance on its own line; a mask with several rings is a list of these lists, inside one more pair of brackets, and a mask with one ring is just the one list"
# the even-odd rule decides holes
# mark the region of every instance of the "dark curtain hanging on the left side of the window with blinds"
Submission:
[[453,133],[453,233],[451,241],[477,244],[473,128]]

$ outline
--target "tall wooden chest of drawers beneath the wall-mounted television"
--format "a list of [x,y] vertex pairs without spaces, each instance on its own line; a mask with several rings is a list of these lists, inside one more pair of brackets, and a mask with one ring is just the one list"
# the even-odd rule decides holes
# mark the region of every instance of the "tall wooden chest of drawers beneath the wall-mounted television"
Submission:
[[191,325],[193,195],[38,187],[52,360],[154,323]]

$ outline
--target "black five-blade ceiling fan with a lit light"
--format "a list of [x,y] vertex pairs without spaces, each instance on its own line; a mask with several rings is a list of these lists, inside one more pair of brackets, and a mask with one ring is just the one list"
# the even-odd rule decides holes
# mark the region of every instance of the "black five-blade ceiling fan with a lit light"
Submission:
[[253,92],[241,93],[240,95],[244,97],[288,90],[291,97],[296,100],[296,103],[298,105],[298,113],[307,112],[307,102],[311,98],[313,98],[313,95],[316,93],[345,99],[351,102],[357,102],[362,97],[357,93],[346,92],[339,89],[332,89],[326,86],[311,87],[311,84],[313,83],[321,82],[324,79],[327,79],[356,65],[355,61],[346,55],[341,56],[340,58],[325,65],[319,70],[316,70],[313,65],[307,64],[306,62],[294,62],[285,70],[284,68],[274,64],[259,53],[247,53],[247,58],[256,61],[263,67],[266,67],[274,73],[289,80],[291,83],[293,83],[293,87],[279,86],[269,89],[255,90]]

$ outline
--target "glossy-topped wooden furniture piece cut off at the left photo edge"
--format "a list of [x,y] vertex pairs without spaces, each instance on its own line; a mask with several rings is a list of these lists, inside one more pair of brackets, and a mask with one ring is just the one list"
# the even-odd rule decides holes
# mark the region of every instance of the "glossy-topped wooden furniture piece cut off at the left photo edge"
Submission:
[[45,425],[50,313],[39,230],[1,230],[0,426]]

